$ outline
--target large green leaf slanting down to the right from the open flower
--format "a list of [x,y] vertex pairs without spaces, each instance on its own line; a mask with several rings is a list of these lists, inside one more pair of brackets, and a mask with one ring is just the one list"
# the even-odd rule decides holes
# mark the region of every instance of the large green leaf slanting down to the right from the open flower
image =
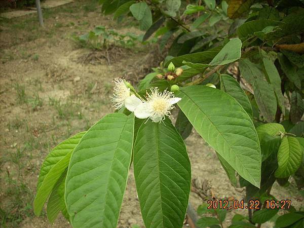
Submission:
[[197,132],[244,179],[260,186],[261,155],[254,125],[230,95],[207,86],[188,86],[177,93],[178,106]]

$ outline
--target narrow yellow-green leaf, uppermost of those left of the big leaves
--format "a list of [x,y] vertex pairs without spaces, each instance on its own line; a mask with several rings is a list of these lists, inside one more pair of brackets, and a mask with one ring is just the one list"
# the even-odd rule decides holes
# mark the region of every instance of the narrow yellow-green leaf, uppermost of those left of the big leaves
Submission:
[[39,188],[41,187],[46,175],[53,168],[53,166],[56,165],[61,159],[63,159],[64,156],[66,156],[69,152],[71,152],[75,146],[77,146],[78,142],[85,133],[86,132],[80,132],[77,135],[74,135],[59,143],[51,150],[41,166],[37,182],[37,192],[39,191]]

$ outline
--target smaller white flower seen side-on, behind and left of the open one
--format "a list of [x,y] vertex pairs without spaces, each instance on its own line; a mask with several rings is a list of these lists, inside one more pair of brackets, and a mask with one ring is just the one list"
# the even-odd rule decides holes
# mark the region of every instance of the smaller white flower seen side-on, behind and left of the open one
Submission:
[[120,109],[124,106],[126,98],[130,97],[130,88],[127,87],[125,79],[116,78],[113,82],[115,83],[115,87],[111,101],[115,109]]

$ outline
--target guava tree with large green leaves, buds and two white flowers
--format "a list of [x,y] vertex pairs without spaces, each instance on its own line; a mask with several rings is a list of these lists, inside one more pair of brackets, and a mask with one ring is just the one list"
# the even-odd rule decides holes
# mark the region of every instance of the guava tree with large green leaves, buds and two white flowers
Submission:
[[[278,216],[279,208],[266,202],[277,202],[275,181],[286,185],[292,177],[304,186],[303,2],[100,4],[118,22],[134,17],[146,31],[143,40],[155,34],[167,57],[138,85],[115,79],[116,112],[53,148],[41,167],[35,214],[48,201],[51,222],[61,211],[73,227],[116,227],[133,163],[145,226],[181,227],[191,187],[183,140],[194,127],[231,183],[246,187],[244,201],[262,205],[230,227],[260,227],[270,219],[276,227],[302,227],[303,211],[291,205]],[[203,216],[197,225],[223,227],[222,211],[210,212],[216,217]]]

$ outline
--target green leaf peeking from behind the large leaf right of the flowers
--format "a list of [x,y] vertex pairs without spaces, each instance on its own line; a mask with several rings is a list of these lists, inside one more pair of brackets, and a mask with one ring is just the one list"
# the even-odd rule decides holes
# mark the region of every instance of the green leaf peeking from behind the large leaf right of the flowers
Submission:
[[248,113],[249,117],[252,118],[252,107],[249,98],[233,77],[227,74],[221,74],[220,89],[235,98]]

